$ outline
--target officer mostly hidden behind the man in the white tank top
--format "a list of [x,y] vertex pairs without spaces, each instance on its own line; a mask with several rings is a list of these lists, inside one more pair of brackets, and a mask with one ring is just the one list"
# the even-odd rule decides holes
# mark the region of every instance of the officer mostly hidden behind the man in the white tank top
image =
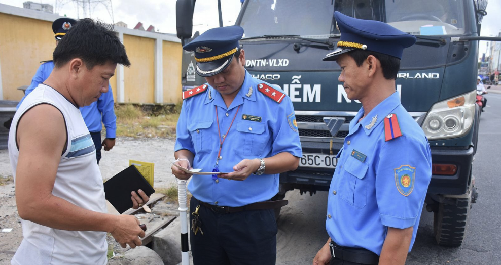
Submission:
[[[56,38],[56,46],[59,41],[63,38],[66,32],[71,28],[72,25],[77,23],[76,20],[70,18],[58,18],[52,23],[52,30],[54,31],[54,37]],[[47,77],[49,77],[52,69],[54,69],[54,63],[52,60],[43,61],[43,64],[38,68],[37,73],[33,76],[31,84],[25,91],[24,97],[21,99],[17,108],[21,105],[24,98],[31,93],[37,86],[43,83]],[[96,146],[96,159],[99,164],[101,159],[101,148],[104,146],[105,151],[109,151],[115,146],[115,132],[117,131],[116,120],[113,101],[113,92],[111,85],[108,87],[108,92],[101,94],[101,97],[89,106],[80,107],[80,112],[84,118],[85,124],[90,131],[94,145]],[[102,123],[106,128],[106,138],[101,143],[101,129]]]

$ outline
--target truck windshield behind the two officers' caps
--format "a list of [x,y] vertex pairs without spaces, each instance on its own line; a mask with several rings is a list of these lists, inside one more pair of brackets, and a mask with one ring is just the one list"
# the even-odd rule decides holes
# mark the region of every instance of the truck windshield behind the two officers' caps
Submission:
[[339,35],[334,11],[382,21],[413,35],[464,34],[464,3],[460,0],[249,0],[239,25],[245,37]]

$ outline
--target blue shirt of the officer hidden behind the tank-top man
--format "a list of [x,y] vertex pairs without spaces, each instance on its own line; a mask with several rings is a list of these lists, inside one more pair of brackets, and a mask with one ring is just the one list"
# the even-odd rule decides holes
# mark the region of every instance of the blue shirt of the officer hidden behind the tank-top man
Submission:
[[[24,98],[31,93],[37,86],[44,82],[54,69],[54,62],[49,61],[42,64],[37,73],[33,76],[31,84],[26,89],[24,97],[21,99],[17,108],[21,105]],[[108,92],[101,94],[97,101],[92,102],[89,106],[80,107],[80,112],[84,118],[85,124],[90,132],[99,132],[102,129],[102,123],[106,128],[106,138],[115,138],[115,133],[117,131],[117,116],[115,116],[115,111],[113,109],[113,92],[112,87],[109,85]],[[102,113],[102,116],[101,116]],[[102,119],[101,119],[102,117]]]

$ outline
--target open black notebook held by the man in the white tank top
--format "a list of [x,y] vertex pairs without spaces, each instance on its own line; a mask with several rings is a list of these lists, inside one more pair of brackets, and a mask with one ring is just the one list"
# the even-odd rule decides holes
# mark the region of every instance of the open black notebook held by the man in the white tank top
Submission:
[[142,190],[152,195],[155,190],[134,165],[113,176],[104,183],[104,196],[118,212],[123,213],[133,206],[130,193]]

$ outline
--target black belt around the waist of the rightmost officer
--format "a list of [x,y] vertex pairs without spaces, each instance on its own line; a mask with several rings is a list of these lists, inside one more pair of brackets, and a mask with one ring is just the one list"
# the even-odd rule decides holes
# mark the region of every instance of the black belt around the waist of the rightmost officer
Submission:
[[365,248],[342,247],[332,240],[329,247],[333,258],[367,265],[377,265],[379,263],[379,256]]

